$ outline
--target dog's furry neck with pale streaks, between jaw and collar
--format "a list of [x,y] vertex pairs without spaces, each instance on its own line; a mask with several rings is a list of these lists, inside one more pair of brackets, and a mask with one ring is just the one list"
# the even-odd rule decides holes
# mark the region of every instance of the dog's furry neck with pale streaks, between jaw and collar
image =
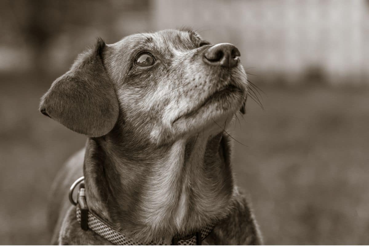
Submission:
[[84,164],[89,209],[139,242],[187,235],[224,218],[234,193],[223,132],[163,146],[127,146],[122,136],[90,138]]

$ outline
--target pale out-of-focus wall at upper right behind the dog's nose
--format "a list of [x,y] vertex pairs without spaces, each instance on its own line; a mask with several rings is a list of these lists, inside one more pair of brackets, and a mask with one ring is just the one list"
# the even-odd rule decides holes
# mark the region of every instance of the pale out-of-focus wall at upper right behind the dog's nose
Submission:
[[232,42],[249,71],[299,83],[322,73],[331,84],[369,80],[365,0],[155,0],[156,29],[193,27],[213,43]]

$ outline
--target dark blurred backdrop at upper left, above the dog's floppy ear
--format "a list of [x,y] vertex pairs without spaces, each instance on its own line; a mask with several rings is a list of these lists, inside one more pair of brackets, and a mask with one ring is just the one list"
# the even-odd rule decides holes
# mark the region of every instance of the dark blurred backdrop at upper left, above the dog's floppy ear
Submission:
[[148,0],[0,3],[0,73],[61,73],[97,37],[108,44],[149,30]]

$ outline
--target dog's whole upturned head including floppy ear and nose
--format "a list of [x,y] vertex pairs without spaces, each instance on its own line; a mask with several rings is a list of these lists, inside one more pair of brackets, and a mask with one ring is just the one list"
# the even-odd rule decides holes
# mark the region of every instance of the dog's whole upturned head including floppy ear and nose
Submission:
[[162,145],[217,134],[243,108],[240,53],[190,30],[130,35],[82,53],[42,97],[40,111],[90,137],[124,131],[130,141]]

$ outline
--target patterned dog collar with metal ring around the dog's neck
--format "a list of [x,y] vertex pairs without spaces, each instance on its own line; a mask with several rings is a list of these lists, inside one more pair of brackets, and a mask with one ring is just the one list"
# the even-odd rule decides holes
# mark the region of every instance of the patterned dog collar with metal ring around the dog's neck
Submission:
[[[106,219],[101,218],[99,215],[89,210],[87,207],[85,184],[83,183],[83,180],[84,177],[77,179],[69,190],[69,200],[76,206],[77,221],[80,223],[83,230],[87,231],[90,229],[115,245],[155,245],[154,242],[146,244],[128,239],[125,235],[113,229],[113,226]],[[80,186],[77,201],[75,202],[73,200],[73,190],[78,184],[80,184]],[[201,241],[209,235],[214,226],[215,224],[207,225],[201,229],[201,231],[183,238],[175,236],[172,239],[172,245],[201,245]],[[164,243],[165,242],[163,241],[159,243],[159,245],[163,245]]]

